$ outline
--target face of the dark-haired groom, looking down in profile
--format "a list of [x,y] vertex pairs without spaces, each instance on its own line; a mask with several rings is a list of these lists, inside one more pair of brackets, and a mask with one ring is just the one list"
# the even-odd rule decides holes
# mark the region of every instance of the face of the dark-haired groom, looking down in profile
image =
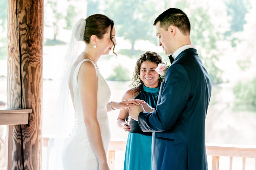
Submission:
[[156,23],[156,36],[158,37],[158,45],[163,48],[166,55],[173,55],[172,50],[172,34],[170,28],[165,31],[164,28],[160,27],[160,22]]

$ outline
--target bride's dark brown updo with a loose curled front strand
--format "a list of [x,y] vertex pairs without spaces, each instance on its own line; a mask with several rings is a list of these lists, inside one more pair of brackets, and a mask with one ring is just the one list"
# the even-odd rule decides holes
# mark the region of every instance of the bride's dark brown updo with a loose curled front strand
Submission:
[[[111,30],[110,30],[110,39],[114,45],[113,48],[113,53],[114,49],[115,49],[115,43],[112,40],[112,30],[114,27],[114,21],[112,19],[110,19],[109,17],[102,15],[102,14],[94,14],[91,15],[89,17],[87,17],[86,19],[86,27],[84,30],[84,37],[83,40],[89,44],[90,43],[90,38],[92,35],[96,35],[99,39],[103,38],[103,35],[108,32],[108,28],[111,25]],[[116,55],[116,54],[115,54]]]

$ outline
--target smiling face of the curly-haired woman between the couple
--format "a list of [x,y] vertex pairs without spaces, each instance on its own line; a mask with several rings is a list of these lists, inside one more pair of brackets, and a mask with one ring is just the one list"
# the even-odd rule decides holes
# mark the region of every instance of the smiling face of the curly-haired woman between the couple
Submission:
[[146,87],[155,88],[158,86],[159,74],[155,71],[157,64],[151,61],[141,63],[140,77]]

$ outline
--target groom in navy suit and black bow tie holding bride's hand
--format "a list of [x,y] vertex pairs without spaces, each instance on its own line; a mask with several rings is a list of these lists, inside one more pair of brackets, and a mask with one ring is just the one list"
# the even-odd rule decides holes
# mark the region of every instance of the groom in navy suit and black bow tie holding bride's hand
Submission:
[[144,132],[153,132],[152,169],[208,169],[205,117],[211,80],[190,41],[190,22],[180,9],[169,8],[155,22],[159,46],[172,65],[160,87],[156,109],[130,104],[129,114]]

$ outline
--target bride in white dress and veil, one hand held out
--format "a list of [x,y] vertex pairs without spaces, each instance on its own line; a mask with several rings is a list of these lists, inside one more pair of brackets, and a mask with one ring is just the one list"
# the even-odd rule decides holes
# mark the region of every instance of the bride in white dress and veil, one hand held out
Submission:
[[[78,57],[75,57],[77,42],[85,42],[86,47]],[[64,129],[58,130],[59,134],[62,133],[62,135],[58,134],[59,139],[49,139],[48,148],[62,147],[61,158],[59,160],[57,158],[57,161],[62,162],[62,167],[53,167],[58,163],[48,160],[48,169],[109,169],[106,158],[110,141],[107,112],[128,108],[129,103],[137,104],[132,100],[108,102],[110,88],[100,74],[97,61],[102,55],[108,55],[112,48],[114,52],[115,45],[114,22],[105,15],[95,14],[86,19],[80,19],[73,27],[66,58],[70,63],[70,69],[67,69],[69,77],[66,76],[68,80],[63,81],[63,84],[64,86],[65,83],[68,84],[70,90],[76,124],[67,139],[63,135],[65,132],[62,133]],[[68,111],[63,110],[62,116],[67,115],[66,112]],[[67,116],[61,118],[63,128],[68,126],[63,123],[65,119],[68,119]],[[64,142],[61,140],[63,138],[65,138]],[[50,154],[58,150],[60,151],[60,149],[47,151],[48,159]],[[56,155],[60,157],[59,153]]]

